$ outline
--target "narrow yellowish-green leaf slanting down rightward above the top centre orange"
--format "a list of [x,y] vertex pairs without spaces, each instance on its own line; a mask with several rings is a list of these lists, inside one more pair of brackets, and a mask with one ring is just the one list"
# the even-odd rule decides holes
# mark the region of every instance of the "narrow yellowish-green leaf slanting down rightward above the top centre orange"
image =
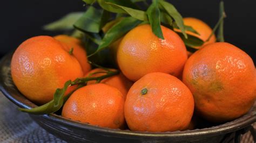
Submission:
[[120,9],[121,11],[123,10],[122,13],[127,13],[131,17],[137,18],[142,21],[147,20],[146,12],[142,10],[131,9],[131,8],[128,8],[122,5],[113,4],[113,3],[107,3],[107,4],[113,6],[113,8]]

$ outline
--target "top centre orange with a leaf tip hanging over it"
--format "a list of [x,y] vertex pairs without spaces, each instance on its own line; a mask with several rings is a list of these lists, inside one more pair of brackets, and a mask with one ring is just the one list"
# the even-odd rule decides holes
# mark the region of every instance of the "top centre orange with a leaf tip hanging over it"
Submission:
[[148,73],[179,76],[187,60],[186,47],[179,35],[161,26],[165,40],[153,34],[151,26],[140,25],[128,32],[117,51],[118,66],[131,81]]

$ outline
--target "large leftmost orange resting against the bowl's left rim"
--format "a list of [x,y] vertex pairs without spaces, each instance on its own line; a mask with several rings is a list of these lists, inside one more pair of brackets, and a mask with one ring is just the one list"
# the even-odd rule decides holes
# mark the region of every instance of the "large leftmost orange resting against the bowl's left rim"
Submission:
[[11,75],[25,97],[44,104],[53,99],[56,89],[62,88],[66,81],[83,77],[83,71],[60,42],[49,36],[38,36],[24,41],[16,49],[11,60]]

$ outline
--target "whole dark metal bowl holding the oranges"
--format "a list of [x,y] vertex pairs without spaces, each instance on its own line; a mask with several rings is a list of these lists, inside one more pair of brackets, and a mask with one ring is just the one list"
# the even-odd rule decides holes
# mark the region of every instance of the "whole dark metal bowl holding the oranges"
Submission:
[[[12,54],[0,62],[0,89],[3,94],[20,108],[30,109],[36,105],[26,99],[15,87],[10,74]],[[225,124],[203,129],[176,132],[133,132],[93,126],[72,121],[54,113],[30,115],[39,125],[56,137],[71,142],[230,142],[239,141],[240,134],[251,130],[256,121],[256,107],[246,115]]]

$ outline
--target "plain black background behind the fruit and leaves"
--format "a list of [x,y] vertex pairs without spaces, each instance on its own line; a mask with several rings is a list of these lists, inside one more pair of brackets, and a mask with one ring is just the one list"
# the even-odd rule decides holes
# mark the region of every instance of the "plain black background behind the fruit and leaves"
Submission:
[[[120,0],[125,1],[125,0]],[[172,0],[183,17],[197,17],[211,27],[218,21],[217,0]],[[256,1],[226,0],[225,41],[243,49],[256,62]],[[82,0],[12,0],[0,4],[0,57],[36,35],[55,35],[42,26],[71,11],[84,11]]]

